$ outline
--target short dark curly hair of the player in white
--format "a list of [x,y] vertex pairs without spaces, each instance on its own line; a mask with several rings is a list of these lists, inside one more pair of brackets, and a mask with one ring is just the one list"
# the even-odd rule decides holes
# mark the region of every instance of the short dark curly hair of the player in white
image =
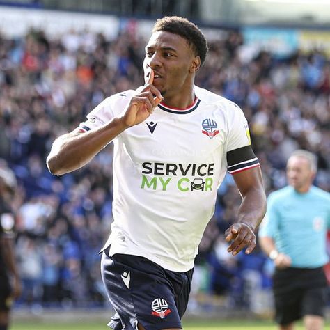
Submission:
[[196,56],[201,58],[201,65],[204,63],[208,51],[207,41],[196,24],[184,17],[166,16],[157,19],[152,29],[152,33],[159,31],[178,34],[178,36],[186,39],[189,46],[193,48]]

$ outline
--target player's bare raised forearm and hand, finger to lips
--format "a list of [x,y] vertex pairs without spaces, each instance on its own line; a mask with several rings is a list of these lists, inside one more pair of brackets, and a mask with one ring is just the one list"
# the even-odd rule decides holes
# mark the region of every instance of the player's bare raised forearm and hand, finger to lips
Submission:
[[47,166],[54,175],[63,175],[86,165],[108,143],[128,127],[142,123],[162,101],[161,93],[152,85],[151,71],[148,84],[136,90],[123,116],[112,118],[88,132],[79,127],[68,134],[59,136],[53,143],[47,157]]

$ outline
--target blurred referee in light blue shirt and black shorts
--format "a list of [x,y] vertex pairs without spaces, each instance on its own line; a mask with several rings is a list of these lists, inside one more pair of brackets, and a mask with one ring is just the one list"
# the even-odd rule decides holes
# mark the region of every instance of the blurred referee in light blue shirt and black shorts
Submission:
[[316,171],[311,152],[293,152],[287,164],[289,186],[269,195],[267,220],[259,231],[260,246],[276,266],[275,320],[281,330],[292,330],[300,318],[307,330],[323,329],[330,194],[312,185]]

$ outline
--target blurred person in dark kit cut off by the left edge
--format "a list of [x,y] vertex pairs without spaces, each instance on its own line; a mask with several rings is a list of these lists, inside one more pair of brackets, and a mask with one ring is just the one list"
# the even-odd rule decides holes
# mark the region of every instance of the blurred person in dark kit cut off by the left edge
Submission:
[[10,208],[15,182],[8,168],[0,168],[0,330],[8,329],[10,308],[21,292],[13,250],[15,217]]

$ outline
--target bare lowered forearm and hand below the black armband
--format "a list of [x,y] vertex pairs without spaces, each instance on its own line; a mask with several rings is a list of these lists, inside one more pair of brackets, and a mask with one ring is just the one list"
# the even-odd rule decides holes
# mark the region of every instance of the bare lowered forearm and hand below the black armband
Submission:
[[225,233],[226,241],[231,242],[228,252],[233,255],[246,248],[249,254],[256,247],[255,231],[266,212],[266,194],[262,182],[260,166],[232,173],[237,188],[242,195],[242,203],[237,214],[237,223]]

